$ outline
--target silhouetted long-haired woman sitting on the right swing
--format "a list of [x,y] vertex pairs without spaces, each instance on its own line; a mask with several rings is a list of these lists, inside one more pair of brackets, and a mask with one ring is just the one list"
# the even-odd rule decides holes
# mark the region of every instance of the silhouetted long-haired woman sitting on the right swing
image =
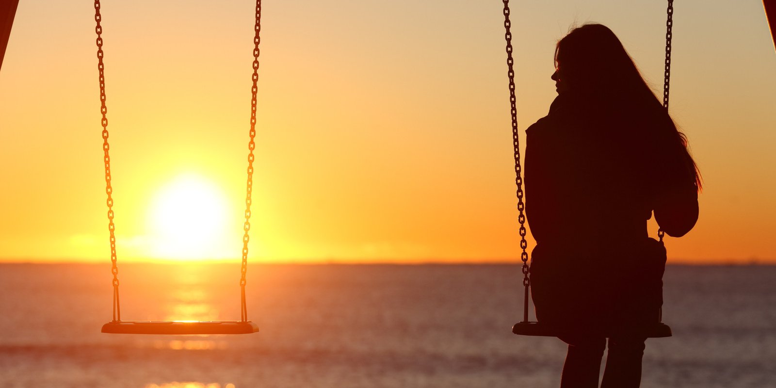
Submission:
[[646,221],[674,237],[695,225],[698,168],[610,29],[573,29],[555,63],[558,97],[525,151],[536,317],[569,345],[563,388],[598,386],[606,338],[601,387],[637,387],[663,303],[665,250]]

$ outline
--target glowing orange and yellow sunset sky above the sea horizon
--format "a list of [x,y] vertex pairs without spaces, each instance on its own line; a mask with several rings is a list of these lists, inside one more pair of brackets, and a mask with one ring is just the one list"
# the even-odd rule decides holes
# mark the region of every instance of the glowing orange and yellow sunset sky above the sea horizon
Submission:
[[[254,4],[102,2],[120,261],[240,257]],[[670,262],[776,262],[762,7],[674,5],[670,113],[705,189]],[[264,2],[251,260],[517,260],[501,8]],[[609,26],[662,89],[665,2],[511,9],[521,146],[574,23]],[[92,2],[19,2],[0,71],[0,261],[109,259],[94,28]]]

